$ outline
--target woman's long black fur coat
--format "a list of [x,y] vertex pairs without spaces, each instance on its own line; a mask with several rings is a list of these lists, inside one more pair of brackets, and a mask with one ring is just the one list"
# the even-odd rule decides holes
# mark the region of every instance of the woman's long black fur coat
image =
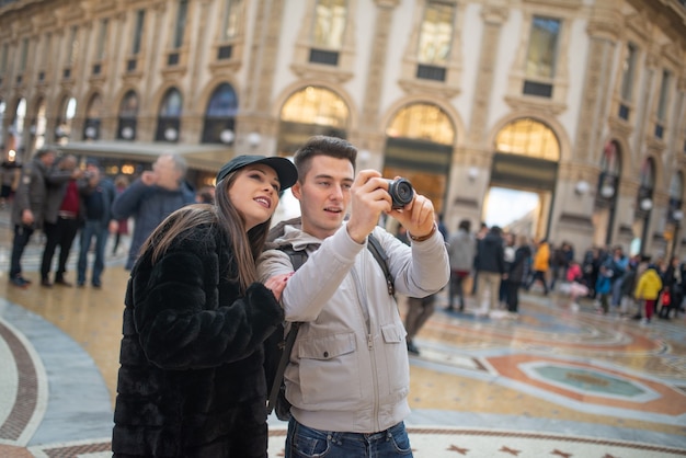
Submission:
[[[263,341],[283,320],[260,283],[240,296],[216,227],[196,228],[126,291],[112,449],[115,456],[264,457]],[[235,275],[231,275],[235,276]]]

